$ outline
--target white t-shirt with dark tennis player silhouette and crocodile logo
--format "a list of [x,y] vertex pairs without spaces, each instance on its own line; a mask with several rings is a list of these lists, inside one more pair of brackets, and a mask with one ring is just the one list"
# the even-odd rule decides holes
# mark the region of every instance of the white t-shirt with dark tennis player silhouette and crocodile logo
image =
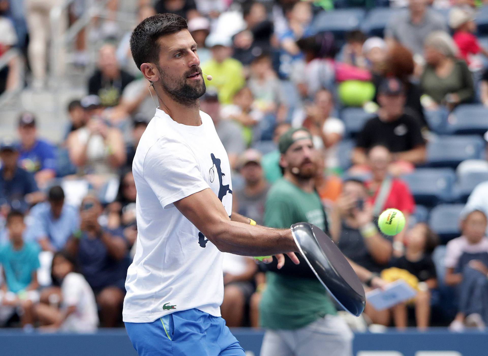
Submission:
[[179,124],[157,110],[137,147],[138,237],[127,271],[123,321],[153,322],[199,309],[220,316],[224,298],[222,253],[173,202],[210,188],[232,212],[230,165],[210,116],[202,125]]

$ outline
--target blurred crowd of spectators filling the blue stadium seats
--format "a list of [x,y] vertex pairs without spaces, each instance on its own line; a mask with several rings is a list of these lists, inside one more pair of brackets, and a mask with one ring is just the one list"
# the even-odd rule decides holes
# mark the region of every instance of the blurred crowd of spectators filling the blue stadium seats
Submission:
[[[48,86],[53,70],[46,26],[60,3],[0,0],[0,56],[25,53],[34,90]],[[87,3],[73,2],[65,26]],[[106,6],[117,13],[118,1]],[[202,70],[213,76],[201,110],[234,170],[234,211],[266,224],[271,210],[286,208],[268,196],[283,184],[278,147],[292,127],[310,133],[331,238],[358,265],[417,290],[390,310],[366,305],[360,319],[343,316],[349,326],[460,331],[488,323],[488,47],[476,28],[483,9],[471,0],[139,0],[137,23],[163,12],[187,19]],[[383,27],[360,17],[352,28],[329,26],[357,10],[389,12]],[[97,68],[85,78],[86,95],[66,106],[59,141],[39,137],[28,111],[18,113],[17,136],[1,137],[0,326],[122,325],[137,239],[132,159],[156,104],[115,16],[96,24],[105,39]],[[79,66],[87,64],[85,35],[76,43]],[[0,68],[0,93],[19,84],[19,70],[18,60]],[[386,208],[407,218],[392,238],[375,224]],[[225,254],[228,326],[262,325],[273,273]]]

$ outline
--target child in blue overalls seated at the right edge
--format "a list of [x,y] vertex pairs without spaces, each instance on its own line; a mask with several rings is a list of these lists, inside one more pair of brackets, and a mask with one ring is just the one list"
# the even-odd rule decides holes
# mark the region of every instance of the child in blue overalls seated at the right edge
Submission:
[[450,328],[465,326],[484,329],[488,322],[488,238],[487,216],[472,210],[461,222],[462,236],[447,243],[446,284],[458,286],[459,312]]

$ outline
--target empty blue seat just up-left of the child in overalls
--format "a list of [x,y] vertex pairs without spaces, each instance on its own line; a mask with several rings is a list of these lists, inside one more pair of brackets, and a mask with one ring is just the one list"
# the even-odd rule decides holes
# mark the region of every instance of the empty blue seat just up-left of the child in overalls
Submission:
[[429,226],[440,237],[442,243],[461,235],[459,217],[464,204],[440,204],[430,212]]

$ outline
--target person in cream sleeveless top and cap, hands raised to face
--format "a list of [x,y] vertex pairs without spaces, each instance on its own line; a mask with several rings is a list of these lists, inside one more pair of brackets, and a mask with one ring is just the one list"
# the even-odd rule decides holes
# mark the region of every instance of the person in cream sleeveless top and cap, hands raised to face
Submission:
[[96,187],[114,176],[114,170],[125,163],[126,154],[122,133],[111,127],[99,116],[98,104],[89,102],[96,99],[89,96],[86,101],[87,124],[69,134],[66,141],[69,158],[80,174],[86,175]]

